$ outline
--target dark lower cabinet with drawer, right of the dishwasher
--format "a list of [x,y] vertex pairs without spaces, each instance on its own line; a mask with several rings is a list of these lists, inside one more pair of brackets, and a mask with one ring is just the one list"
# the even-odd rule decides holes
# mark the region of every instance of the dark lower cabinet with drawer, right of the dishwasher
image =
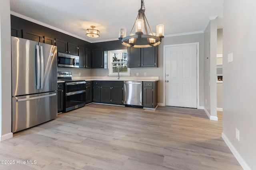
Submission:
[[143,107],[155,108],[157,106],[157,81],[143,82]]

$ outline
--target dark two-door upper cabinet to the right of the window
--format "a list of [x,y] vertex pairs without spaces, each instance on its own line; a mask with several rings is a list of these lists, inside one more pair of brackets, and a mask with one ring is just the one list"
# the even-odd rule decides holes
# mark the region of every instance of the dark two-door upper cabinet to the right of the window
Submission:
[[127,52],[128,68],[158,66],[158,46],[147,48],[128,47]]

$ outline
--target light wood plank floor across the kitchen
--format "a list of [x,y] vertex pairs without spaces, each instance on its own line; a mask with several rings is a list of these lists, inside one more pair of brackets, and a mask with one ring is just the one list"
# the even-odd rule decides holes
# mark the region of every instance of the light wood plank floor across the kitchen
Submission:
[[242,170],[221,138],[221,114],[90,104],[1,142],[0,160],[15,164],[0,169]]

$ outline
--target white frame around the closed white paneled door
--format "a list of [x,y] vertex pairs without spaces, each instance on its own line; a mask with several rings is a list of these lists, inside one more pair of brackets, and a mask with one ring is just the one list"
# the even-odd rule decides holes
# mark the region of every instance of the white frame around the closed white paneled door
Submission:
[[166,59],[166,47],[176,47],[176,46],[183,46],[183,45],[196,45],[196,50],[197,50],[197,54],[196,54],[196,74],[197,74],[197,80],[196,80],[196,98],[197,98],[197,103],[196,103],[196,106],[197,108],[199,109],[200,108],[200,89],[199,89],[199,78],[200,78],[200,72],[199,72],[199,42],[196,42],[196,43],[184,43],[184,44],[174,44],[174,45],[164,45],[164,56],[163,56],[163,63],[164,63],[164,67],[163,67],[163,73],[164,73],[164,76],[163,76],[163,89],[164,89],[164,106],[166,106],[166,71],[165,71],[165,68],[166,68],[166,64],[165,64],[165,59]]

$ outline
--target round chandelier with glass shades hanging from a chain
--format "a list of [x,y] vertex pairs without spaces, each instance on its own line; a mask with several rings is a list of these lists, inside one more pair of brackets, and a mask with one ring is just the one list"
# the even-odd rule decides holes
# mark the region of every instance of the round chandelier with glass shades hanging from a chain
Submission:
[[[136,48],[144,48],[144,47],[153,47],[159,45],[164,38],[164,25],[156,25],[156,33],[153,33],[148,20],[144,14],[145,6],[144,0],[141,0],[141,8],[139,9],[139,14],[136,18],[135,23],[132,26],[132,30],[135,26],[135,34],[132,33],[126,37],[126,28],[121,27],[119,30],[119,38],[122,41],[122,45],[127,47],[136,47]],[[150,29],[150,33],[148,33],[147,25]],[[145,32],[144,32],[145,29]],[[144,34],[145,33],[145,34]]]

